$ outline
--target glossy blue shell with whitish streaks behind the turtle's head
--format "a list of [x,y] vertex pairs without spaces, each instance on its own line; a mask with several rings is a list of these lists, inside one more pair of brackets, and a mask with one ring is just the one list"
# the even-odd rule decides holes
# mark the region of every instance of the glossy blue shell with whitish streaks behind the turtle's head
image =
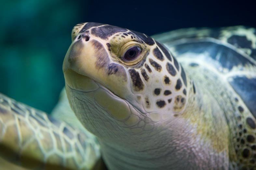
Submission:
[[[204,55],[256,118],[256,30],[244,26],[180,29],[155,35],[177,57]],[[193,56],[193,55],[190,55]],[[198,58],[195,58],[195,60]],[[193,64],[193,63],[192,63]],[[196,64],[195,64],[196,65]],[[242,110],[243,108],[239,108]]]

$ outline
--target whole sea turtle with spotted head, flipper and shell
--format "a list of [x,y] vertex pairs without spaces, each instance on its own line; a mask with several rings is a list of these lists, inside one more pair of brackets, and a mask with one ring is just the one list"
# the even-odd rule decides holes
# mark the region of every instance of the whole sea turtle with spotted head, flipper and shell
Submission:
[[255,34],[77,24],[54,118],[0,96],[0,155],[30,169],[255,170]]

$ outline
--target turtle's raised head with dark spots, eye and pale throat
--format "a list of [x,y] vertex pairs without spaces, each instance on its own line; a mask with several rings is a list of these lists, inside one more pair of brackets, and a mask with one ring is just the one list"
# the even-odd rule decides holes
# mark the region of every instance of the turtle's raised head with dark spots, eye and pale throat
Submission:
[[72,109],[101,140],[146,139],[186,107],[183,68],[162,44],[136,31],[77,24],[63,72]]

